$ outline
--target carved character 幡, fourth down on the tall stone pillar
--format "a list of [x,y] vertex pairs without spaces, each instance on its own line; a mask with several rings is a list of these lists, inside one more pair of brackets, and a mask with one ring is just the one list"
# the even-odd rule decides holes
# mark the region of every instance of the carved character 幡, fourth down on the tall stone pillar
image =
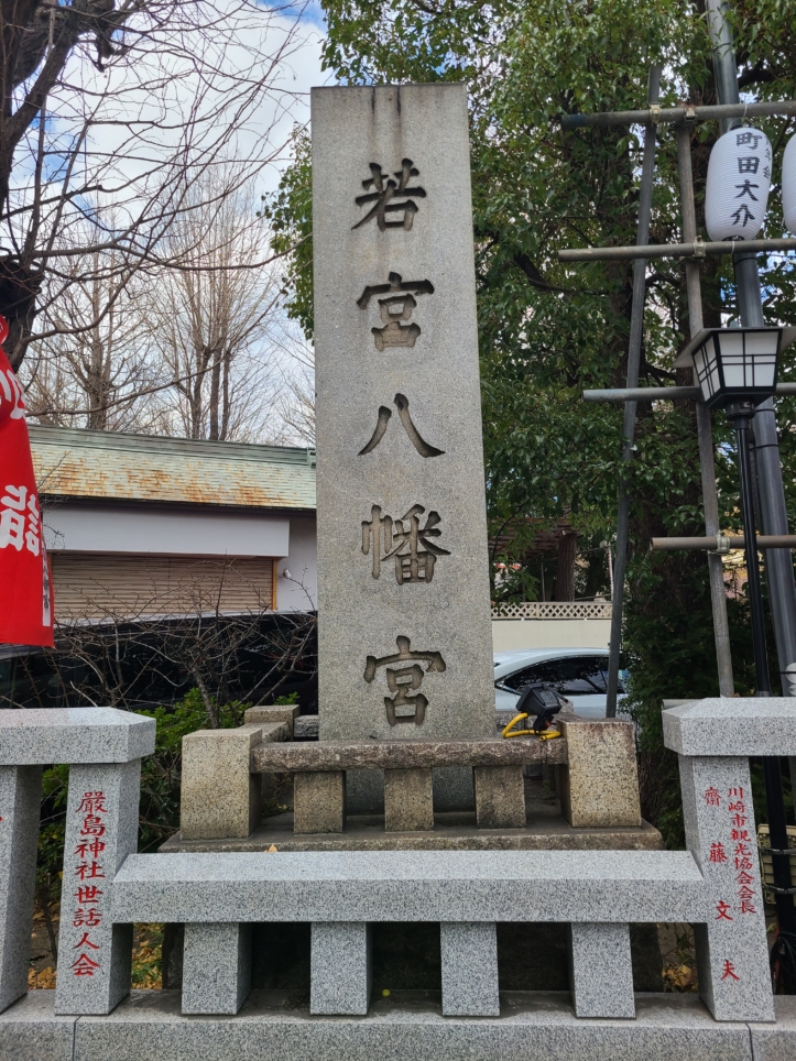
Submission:
[[382,516],[380,505],[372,506],[370,519],[362,521],[362,553],[368,556],[372,549],[374,579],[381,575],[382,560],[394,557],[399,586],[404,582],[430,582],[436,558],[450,556],[447,549],[429,540],[441,534],[437,527],[439,513],[429,512],[425,526],[421,527],[419,516],[424,512],[423,505],[413,505],[393,524],[390,516]]

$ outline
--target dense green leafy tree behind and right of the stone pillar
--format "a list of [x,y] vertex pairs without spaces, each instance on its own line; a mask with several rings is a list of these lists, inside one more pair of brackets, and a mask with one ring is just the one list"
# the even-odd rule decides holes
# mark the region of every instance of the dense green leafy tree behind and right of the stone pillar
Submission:
[[[566,517],[581,543],[612,539],[620,477],[622,409],[586,405],[586,387],[625,381],[632,294],[629,263],[561,264],[566,247],[620,245],[636,236],[641,140],[635,129],[564,132],[560,113],[644,106],[651,64],[663,68],[661,103],[716,101],[704,4],[688,0],[323,0],[326,67],[341,83],[464,80],[470,102],[473,228],[478,282],[487,503],[492,536],[511,540],[493,561],[522,559],[538,529]],[[796,20],[787,0],[740,0],[734,30],[745,92],[796,95]],[[766,232],[783,233],[778,158],[793,120],[755,121],[775,151]],[[704,229],[707,163],[716,124],[691,133],[697,223]],[[285,176],[279,230],[296,242],[310,230],[308,150]],[[651,240],[679,242],[674,129],[661,127]],[[277,233],[279,236],[279,233]],[[279,244],[287,249],[287,242]],[[274,244],[276,247],[276,244]],[[286,280],[292,311],[312,333],[308,241]],[[734,314],[731,262],[701,271],[705,322]],[[771,321],[796,322],[793,260],[764,267]],[[301,307],[301,311],[299,311]],[[688,383],[673,361],[688,336],[685,266],[647,265],[642,385]],[[784,367],[794,376],[796,348]],[[796,459],[796,401],[778,403],[786,468]],[[715,419],[722,525],[735,530],[732,439]],[[785,474],[790,517],[796,479]],[[658,534],[704,533],[693,407],[640,406],[632,497],[625,647],[632,711],[641,723],[644,812],[681,840],[676,764],[664,752],[661,700],[716,694],[707,566],[702,555],[648,551]],[[535,572],[521,570],[506,594],[528,599]],[[500,594],[497,594],[500,595]],[[751,688],[749,616],[730,602],[739,691]],[[773,638],[770,638],[773,647]],[[776,667],[772,668],[775,672]]]

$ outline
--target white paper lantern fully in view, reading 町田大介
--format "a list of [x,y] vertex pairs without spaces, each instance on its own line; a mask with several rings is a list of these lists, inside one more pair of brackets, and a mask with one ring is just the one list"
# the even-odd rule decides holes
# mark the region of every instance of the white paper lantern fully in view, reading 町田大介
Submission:
[[763,225],[771,187],[771,144],[760,129],[720,136],[710,152],[705,225],[711,240],[753,240]]

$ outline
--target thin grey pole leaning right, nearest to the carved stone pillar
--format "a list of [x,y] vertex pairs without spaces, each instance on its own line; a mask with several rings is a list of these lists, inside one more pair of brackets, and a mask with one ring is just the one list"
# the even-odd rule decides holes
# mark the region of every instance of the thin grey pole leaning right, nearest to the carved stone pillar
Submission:
[[[650,67],[647,102],[657,103],[661,92],[661,67]],[[644,131],[644,161],[641,169],[639,193],[639,232],[636,243],[650,242],[650,217],[652,215],[652,186],[655,176],[655,125]],[[628,344],[628,386],[639,386],[641,362],[641,340],[644,333],[644,303],[646,299],[646,261],[639,258],[633,263],[633,307],[630,317],[630,342]],[[622,461],[633,459],[635,438],[635,402],[624,405],[624,444]],[[617,692],[619,690],[619,653],[622,643],[622,605],[624,603],[624,571],[628,561],[628,526],[630,523],[630,496],[624,475],[619,480],[619,505],[617,512],[617,549],[613,561],[613,597],[611,608],[611,641],[608,653],[608,689],[606,696],[606,718],[617,715]]]

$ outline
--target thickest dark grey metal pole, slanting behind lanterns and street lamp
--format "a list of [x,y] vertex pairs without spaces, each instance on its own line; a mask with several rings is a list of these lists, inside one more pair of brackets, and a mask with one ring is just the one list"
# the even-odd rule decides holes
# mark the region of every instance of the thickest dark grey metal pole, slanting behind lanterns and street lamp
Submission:
[[[717,94],[720,103],[739,103],[738,65],[733,50],[732,32],[727,20],[727,4],[724,0],[707,0],[708,26],[713,43],[713,67],[716,69]],[[721,131],[741,123],[741,119],[726,119],[721,122]],[[735,286],[738,288],[738,306],[741,324],[745,327],[760,326],[763,320],[763,303],[760,294],[760,275],[757,259],[754,255],[739,255],[735,261]],[[782,466],[779,463],[779,447],[776,437],[776,420],[774,418],[774,402],[768,398],[757,408],[754,425],[755,451],[757,457],[757,486],[761,500],[761,517],[765,534],[787,534],[787,511],[782,484]],[[739,464],[741,469],[749,468],[746,452],[746,431],[743,438],[739,435]],[[743,449],[741,447],[743,442]],[[750,534],[754,533],[754,510],[752,507],[751,483],[748,499],[744,502],[751,512],[751,525],[745,528],[749,545],[746,548],[746,569],[751,575],[750,558],[756,570],[756,550],[750,556],[754,544]],[[743,501],[743,499],[742,499]],[[748,513],[744,512],[744,523]],[[787,692],[785,671],[788,664],[796,661],[796,584],[794,583],[793,560],[790,553],[772,549],[766,554],[765,562],[768,597],[774,621],[774,637],[776,641],[779,672],[783,691]],[[751,590],[751,579],[750,579]],[[752,614],[754,623],[754,612]],[[762,617],[761,617],[762,623]],[[755,660],[756,663],[756,660]],[[767,665],[766,665],[767,669]],[[760,694],[760,690],[759,690]],[[787,829],[785,825],[785,803],[782,795],[782,777],[779,759],[771,756],[763,758],[763,774],[765,779],[765,801],[768,810],[768,834],[771,845],[775,851],[787,850]],[[772,853],[774,884],[781,888],[790,886],[790,860],[787,854]],[[796,908],[789,895],[776,893],[776,912],[779,933],[787,937],[790,944],[796,943]],[[782,947],[783,943],[775,944]],[[786,989],[793,992],[794,984],[786,984]]]

